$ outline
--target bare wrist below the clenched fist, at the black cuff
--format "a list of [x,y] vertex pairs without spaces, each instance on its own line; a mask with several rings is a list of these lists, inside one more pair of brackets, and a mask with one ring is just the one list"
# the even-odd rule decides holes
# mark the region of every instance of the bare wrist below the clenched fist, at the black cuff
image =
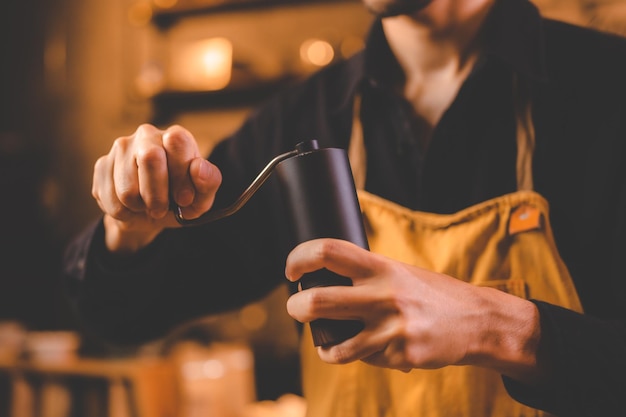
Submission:
[[130,255],[148,246],[161,229],[130,229],[126,223],[109,215],[104,216],[104,243],[109,252],[117,255]]

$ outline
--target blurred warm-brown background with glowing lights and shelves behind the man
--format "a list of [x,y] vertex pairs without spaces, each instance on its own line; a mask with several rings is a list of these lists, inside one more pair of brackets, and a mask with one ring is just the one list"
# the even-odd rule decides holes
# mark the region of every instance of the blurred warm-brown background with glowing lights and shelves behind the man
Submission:
[[[208,153],[277,89],[360,49],[371,21],[360,1],[5,3],[0,417],[301,415],[285,293],[122,351],[77,324],[60,262],[99,216],[91,173],[113,139],[144,122],[179,123]],[[535,3],[626,35],[626,0]]]

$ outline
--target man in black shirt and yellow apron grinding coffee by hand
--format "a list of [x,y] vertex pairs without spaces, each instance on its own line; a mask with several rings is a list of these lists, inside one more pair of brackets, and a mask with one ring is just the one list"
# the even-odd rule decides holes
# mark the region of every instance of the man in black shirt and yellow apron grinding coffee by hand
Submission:
[[[364,0],[363,53],[255,112],[206,161],[143,125],[95,166],[104,214],[70,247],[76,307],[138,343],[258,299],[286,275],[300,322],[359,320],[314,347],[312,416],[611,415],[626,388],[626,44],[527,0]],[[271,179],[296,143],[349,149],[371,251],[293,247]],[[556,242],[555,242],[555,239]],[[557,251],[558,248],[558,251]],[[286,261],[286,263],[285,263]],[[327,268],[351,287],[297,291]],[[336,364],[342,364],[337,366]]]

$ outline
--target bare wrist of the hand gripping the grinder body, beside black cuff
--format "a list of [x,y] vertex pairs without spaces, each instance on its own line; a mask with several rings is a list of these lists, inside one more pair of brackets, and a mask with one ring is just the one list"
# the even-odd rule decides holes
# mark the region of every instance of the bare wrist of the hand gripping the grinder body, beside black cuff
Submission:
[[537,307],[493,288],[482,290],[483,326],[468,349],[466,361],[521,382],[542,381],[547,372],[538,360],[541,326]]

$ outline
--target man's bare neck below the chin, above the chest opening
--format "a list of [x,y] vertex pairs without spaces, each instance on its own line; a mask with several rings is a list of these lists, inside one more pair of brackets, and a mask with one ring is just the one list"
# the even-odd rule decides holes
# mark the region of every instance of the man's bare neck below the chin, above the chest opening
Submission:
[[435,0],[413,15],[384,18],[385,35],[407,79],[444,68],[462,73],[472,65],[494,1]]

